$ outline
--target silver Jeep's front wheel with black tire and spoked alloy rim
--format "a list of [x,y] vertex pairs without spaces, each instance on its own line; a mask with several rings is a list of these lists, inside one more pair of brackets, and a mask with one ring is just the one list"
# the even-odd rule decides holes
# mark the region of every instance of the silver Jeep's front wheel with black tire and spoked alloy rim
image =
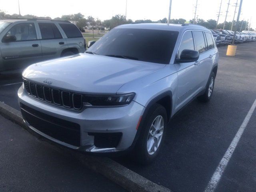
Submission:
[[[160,129],[154,132],[152,124],[154,123],[154,125],[156,125],[157,120],[161,120],[161,127]],[[164,137],[166,135],[166,125],[167,114],[165,108],[160,104],[154,104],[148,111],[148,114],[143,122],[143,125],[140,127],[142,128],[142,130],[140,132],[140,137],[138,138],[138,141],[134,148],[136,160],[140,164],[149,164],[156,158],[163,144]],[[160,136],[161,133],[162,136]],[[157,141],[158,144],[156,143]],[[151,150],[148,150],[147,143],[150,143],[151,145],[153,144]],[[158,145],[157,148],[154,147],[156,145]]]

